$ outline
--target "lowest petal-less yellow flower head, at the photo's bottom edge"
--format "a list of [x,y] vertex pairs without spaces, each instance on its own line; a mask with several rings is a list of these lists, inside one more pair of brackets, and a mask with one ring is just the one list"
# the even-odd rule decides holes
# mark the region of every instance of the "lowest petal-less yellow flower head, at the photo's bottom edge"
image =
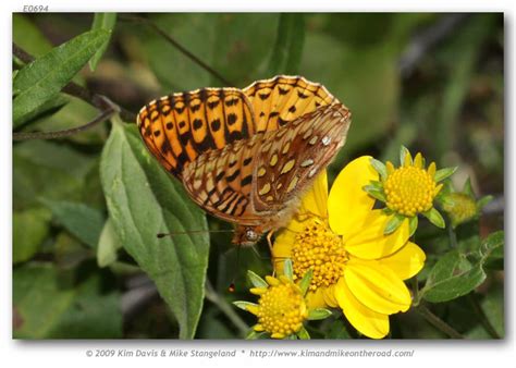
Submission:
[[258,304],[248,302],[234,302],[244,310],[258,318],[258,323],[253,327],[248,339],[257,338],[256,332],[266,332],[272,339],[298,338],[309,339],[308,332],[303,327],[306,320],[324,319],[331,311],[324,308],[307,308],[305,299],[311,272],[305,274],[303,282],[293,281],[292,263],[284,262],[284,268],[278,278],[267,275],[266,280],[248,271],[249,279],[255,287],[249,291],[259,296]]

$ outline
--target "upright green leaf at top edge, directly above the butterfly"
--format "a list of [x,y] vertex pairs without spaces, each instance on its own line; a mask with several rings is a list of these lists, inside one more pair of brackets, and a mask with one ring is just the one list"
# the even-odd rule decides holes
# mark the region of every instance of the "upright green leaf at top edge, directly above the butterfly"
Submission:
[[302,13],[282,13],[278,35],[269,61],[269,74],[298,73],[303,45],[305,42],[305,19]]

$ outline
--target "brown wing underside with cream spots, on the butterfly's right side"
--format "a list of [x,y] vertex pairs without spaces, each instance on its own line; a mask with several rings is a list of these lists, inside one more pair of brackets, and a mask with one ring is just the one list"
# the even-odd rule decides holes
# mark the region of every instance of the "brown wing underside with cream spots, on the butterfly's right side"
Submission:
[[344,145],[349,124],[349,110],[336,103],[268,132],[257,155],[256,211],[279,211],[299,198]]

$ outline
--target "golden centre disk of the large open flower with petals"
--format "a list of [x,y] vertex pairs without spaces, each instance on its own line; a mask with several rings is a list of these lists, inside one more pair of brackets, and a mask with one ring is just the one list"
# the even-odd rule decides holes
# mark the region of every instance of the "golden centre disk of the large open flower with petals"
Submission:
[[346,261],[342,238],[323,221],[308,220],[308,225],[296,235],[292,255],[294,278],[302,279],[311,269],[310,290],[335,284],[344,274]]

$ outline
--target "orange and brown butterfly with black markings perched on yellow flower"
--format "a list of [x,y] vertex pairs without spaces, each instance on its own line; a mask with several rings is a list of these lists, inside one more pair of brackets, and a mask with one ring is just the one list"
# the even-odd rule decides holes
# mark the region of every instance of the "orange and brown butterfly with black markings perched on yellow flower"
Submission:
[[239,245],[287,224],[349,124],[322,85],[284,75],[172,94],[137,116],[149,151],[205,211],[235,224]]

